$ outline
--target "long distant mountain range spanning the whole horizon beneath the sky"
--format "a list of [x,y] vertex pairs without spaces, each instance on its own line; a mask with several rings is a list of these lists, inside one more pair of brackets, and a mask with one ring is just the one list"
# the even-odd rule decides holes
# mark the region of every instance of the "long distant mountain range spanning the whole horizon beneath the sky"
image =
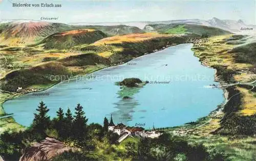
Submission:
[[[79,29],[93,29],[95,32],[87,34],[81,34],[79,32],[66,35],[59,34]],[[70,45],[72,46],[72,44],[79,44],[78,41],[92,43],[104,37],[133,33],[193,33],[197,35],[208,33],[210,36],[213,36],[230,34],[231,32],[252,35],[255,34],[255,29],[255,25],[247,25],[242,20],[220,20],[215,17],[210,20],[181,19],[157,22],[134,21],[108,23],[77,22],[72,24],[15,19],[0,21],[0,43],[2,45],[20,46],[19,43],[22,45],[30,45],[42,42],[46,43],[47,41],[51,42],[47,47],[56,47],[56,45],[59,45],[58,43],[60,43],[56,40],[63,40],[67,43],[63,43],[61,48],[66,48]],[[95,40],[93,39],[92,42],[86,40],[94,36]],[[50,39],[52,41],[50,41]]]

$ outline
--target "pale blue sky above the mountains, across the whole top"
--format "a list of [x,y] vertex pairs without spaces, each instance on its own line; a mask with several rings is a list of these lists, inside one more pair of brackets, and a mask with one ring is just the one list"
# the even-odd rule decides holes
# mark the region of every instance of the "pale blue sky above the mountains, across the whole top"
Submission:
[[[1,0],[0,0],[1,1]],[[53,3],[61,8],[13,8],[16,3]],[[140,0],[2,0],[0,19],[33,19],[58,17],[58,22],[121,22],[121,21],[160,21],[173,19],[199,18],[208,20],[242,19],[247,24],[255,24],[255,0],[197,0],[197,1],[140,1]]]

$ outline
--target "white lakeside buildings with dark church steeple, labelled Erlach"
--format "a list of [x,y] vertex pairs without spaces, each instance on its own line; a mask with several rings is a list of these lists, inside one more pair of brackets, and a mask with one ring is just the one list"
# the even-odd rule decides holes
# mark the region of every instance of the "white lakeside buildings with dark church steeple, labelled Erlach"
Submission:
[[138,136],[142,138],[158,138],[162,134],[161,131],[157,131],[155,129],[154,125],[152,130],[145,130],[143,127],[130,127],[122,123],[115,125],[112,119],[112,115],[109,123],[109,130],[117,133],[119,136],[127,134],[129,136]]

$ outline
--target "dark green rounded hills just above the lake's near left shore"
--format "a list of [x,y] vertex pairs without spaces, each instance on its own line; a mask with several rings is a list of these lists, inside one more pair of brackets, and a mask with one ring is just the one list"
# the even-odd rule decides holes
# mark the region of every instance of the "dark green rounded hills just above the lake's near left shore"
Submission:
[[95,65],[94,68],[90,68],[90,70],[94,70],[98,69],[98,65],[104,66],[109,64],[110,61],[108,59],[99,57],[94,53],[85,53],[36,67],[13,71],[0,80],[0,88],[4,91],[15,92],[18,87],[28,88],[33,85],[49,86],[60,82],[60,79],[53,79],[52,76],[65,76],[66,79],[78,74],[75,71],[71,71],[68,67],[83,66],[83,72],[86,73],[86,68],[90,65]]

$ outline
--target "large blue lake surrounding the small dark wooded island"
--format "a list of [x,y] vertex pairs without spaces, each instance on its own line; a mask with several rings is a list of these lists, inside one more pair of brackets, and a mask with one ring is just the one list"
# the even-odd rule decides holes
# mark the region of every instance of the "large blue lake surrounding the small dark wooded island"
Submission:
[[[202,66],[191,51],[193,44],[181,44],[139,57],[129,64],[105,68],[92,74],[61,82],[52,88],[6,101],[4,110],[13,113],[16,122],[29,126],[40,101],[56,116],[58,108],[74,112],[80,103],[89,123],[103,124],[104,117],[113,114],[115,123],[144,128],[169,127],[196,121],[224,101],[223,91],[204,86],[216,84],[215,70]],[[91,75],[89,77],[89,75]],[[115,82],[136,77],[146,84],[133,93],[132,99],[122,99],[122,89]],[[157,82],[169,82],[168,84]],[[49,95],[48,95],[49,94]]]

